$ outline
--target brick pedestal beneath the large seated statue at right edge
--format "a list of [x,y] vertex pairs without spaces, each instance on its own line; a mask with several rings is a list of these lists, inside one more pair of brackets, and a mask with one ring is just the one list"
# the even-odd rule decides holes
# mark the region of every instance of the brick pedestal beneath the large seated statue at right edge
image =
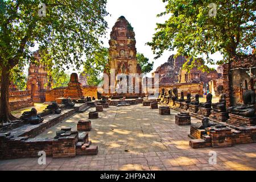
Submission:
[[227,123],[235,126],[254,126],[256,125],[256,117],[246,118],[242,117],[241,115],[229,114]]

